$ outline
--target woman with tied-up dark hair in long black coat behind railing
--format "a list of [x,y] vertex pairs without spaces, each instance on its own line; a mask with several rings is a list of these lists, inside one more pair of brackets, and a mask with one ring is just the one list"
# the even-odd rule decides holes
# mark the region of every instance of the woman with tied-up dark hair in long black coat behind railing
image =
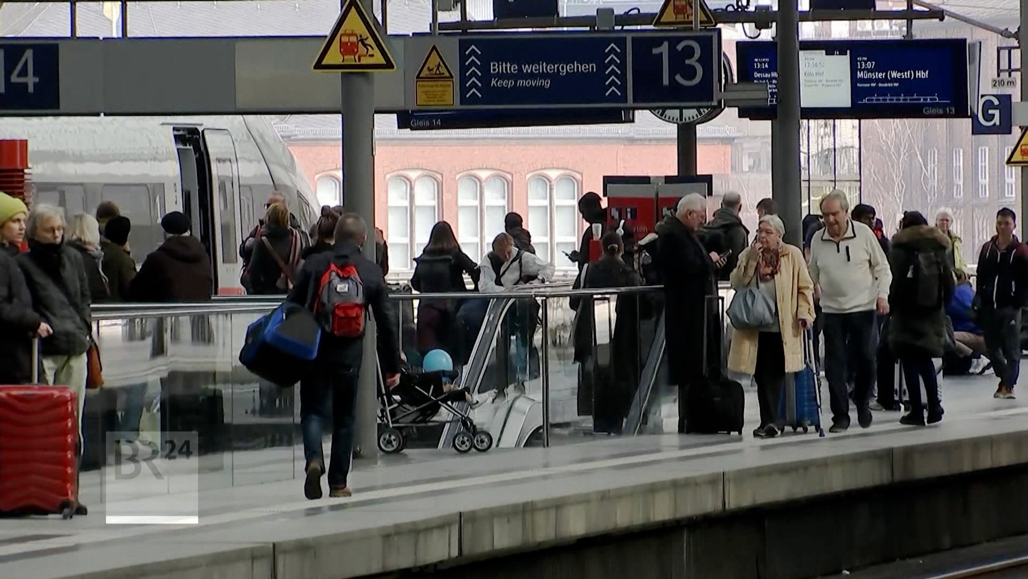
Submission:
[[[575,280],[573,289],[624,288],[640,285],[638,275],[629,267],[622,255],[624,245],[621,236],[611,231],[600,240],[603,255],[597,261],[586,265],[585,275]],[[584,278],[584,279],[583,279]],[[621,434],[625,417],[631,407],[631,399],[638,388],[639,360],[639,312],[645,301],[638,294],[611,296],[616,301],[614,309],[614,332],[610,343],[596,341],[595,299],[592,297],[571,298],[575,318],[575,361],[580,364],[578,390],[579,415],[593,417],[592,430],[595,433]],[[609,310],[600,309],[598,323],[607,324]],[[618,353],[617,363],[614,352]]]

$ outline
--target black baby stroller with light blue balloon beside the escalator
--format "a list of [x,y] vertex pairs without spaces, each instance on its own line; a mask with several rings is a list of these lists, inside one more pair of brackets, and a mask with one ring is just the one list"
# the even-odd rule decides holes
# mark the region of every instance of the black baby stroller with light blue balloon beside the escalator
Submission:
[[[378,449],[387,454],[400,453],[407,446],[407,429],[446,423],[461,426],[452,443],[457,453],[470,453],[472,448],[485,453],[491,448],[492,435],[476,428],[468,410],[457,409],[457,404],[469,402],[472,397],[468,389],[453,385],[456,377],[449,354],[433,350],[425,355],[420,373],[404,365],[400,384],[395,388],[388,389],[384,382],[379,381]],[[474,404],[469,406],[474,407]],[[452,418],[437,420],[443,410]]]

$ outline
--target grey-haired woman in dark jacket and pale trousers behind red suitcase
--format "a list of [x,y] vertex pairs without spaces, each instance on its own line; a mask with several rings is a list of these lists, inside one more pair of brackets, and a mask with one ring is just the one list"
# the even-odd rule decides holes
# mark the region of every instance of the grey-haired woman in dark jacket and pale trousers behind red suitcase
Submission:
[[[17,264],[32,294],[32,309],[52,328],[50,335],[40,339],[42,382],[75,392],[81,441],[88,375],[85,353],[91,339],[89,282],[81,255],[64,243],[65,218],[60,207],[36,205],[29,213],[26,234],[29,251],[17,256]],[[85,512],[80,504],[76,514]]]

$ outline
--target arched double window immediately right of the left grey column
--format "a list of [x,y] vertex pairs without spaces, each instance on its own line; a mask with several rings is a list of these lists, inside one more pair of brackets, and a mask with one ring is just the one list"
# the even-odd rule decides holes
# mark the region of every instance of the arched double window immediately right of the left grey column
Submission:
[[439,181],[423,175],[413,181],[403,176],[389,180],[390,264],[411,269],[413,258],[429,243],[429,233],[439,215]]

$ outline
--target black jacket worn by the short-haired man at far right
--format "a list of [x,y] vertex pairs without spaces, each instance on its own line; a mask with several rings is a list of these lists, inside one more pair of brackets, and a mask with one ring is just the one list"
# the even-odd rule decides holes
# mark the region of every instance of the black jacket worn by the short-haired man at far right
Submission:
[[985,309],[1028,306],[1028,246],[1015,236],[1014,243],[1000,250],[993,236],[979,252],[976,286]]

